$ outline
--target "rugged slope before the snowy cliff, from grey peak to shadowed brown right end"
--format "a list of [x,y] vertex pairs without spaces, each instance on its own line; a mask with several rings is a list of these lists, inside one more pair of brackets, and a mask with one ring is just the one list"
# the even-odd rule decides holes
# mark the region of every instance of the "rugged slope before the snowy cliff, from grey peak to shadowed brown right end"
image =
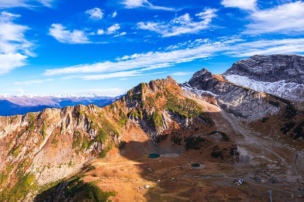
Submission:
[[[283,139],[304,139],[304,112],[301,105],[236,85],[220,75],[212,75],[206,69],[196,72],[181,86],[188,92],[213,96],[220,108],[249,124],[254,123],[252,127],[259,132]],[[267,125],[268,129],[264,129],[260,124]]]

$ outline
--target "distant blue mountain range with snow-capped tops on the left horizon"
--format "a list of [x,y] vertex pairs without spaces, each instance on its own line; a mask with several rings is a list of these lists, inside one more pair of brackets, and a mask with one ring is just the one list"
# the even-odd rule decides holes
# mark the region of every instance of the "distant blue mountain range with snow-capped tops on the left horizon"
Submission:
[[99,94],[64,94],[64,95],[10,95],[0,94],[0,116],[25,114],[41,111],[46,108],[63,108],[75,105],[94,104],[99,107],[111,104],[118,97]]

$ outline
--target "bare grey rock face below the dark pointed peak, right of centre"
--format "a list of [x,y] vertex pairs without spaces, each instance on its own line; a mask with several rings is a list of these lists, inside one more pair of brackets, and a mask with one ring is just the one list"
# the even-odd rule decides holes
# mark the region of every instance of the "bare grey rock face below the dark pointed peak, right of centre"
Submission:
[[270,104],[269,95],[227,82],[212,75],[206,69],[196,72],[189,82],[183,85],[210,92],[221,108],[236,117],[251,121],[267,114],[278,113],[280,110],[278,106]]

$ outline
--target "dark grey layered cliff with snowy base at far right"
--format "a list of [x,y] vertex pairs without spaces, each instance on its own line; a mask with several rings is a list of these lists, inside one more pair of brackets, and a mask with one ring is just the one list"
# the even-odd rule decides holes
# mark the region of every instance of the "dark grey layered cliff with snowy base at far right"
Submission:
[[304,101],[304,56],[255,55],[235,62],[223,77],[259,92]]

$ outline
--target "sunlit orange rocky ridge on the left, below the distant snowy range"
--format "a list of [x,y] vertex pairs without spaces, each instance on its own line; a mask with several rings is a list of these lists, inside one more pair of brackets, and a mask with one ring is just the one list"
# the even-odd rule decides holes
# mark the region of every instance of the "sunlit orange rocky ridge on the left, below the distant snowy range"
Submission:
[[61,180],[92,157],[119,147],[123,134],[94,105],[0,117],[0,131],[1,190],[23,175],[34,176],[37,186]]

